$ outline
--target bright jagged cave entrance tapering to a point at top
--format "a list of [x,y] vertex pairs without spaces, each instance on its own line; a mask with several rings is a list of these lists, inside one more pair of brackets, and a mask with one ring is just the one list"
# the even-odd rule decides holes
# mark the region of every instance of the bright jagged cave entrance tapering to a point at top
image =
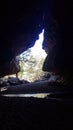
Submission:
[[42,49],[44,40],[44,29],[39,34],[39,39],[35,41],[33,47],[17,56],[20,64],[19,79],[25,79],[29,82],[41,80],[45,72],[42,70],[44,60],[47,56]]

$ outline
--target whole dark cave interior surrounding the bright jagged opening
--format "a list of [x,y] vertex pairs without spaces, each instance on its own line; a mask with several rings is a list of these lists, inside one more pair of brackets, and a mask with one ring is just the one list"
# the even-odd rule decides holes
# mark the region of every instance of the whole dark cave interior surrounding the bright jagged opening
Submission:
[[[19,68],[15,71],[14,67],[12,72],[12,61],[33,47],[44,28],[43,49],[47,57],[42,70],[59,75],[59,79],[57,82],[40,81],[8,87],[0,85],[0,128],[73,129],[72,2],[6,1],[1,7],[0,78],[19,72]],[[34,93],[47,95],[39,97],[33,96]],[[24,94],[31,95],[24,97]]]

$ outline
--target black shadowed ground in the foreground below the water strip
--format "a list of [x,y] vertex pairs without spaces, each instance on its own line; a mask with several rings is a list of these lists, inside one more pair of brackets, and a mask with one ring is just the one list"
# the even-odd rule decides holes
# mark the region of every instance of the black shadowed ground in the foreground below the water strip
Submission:
[[66,130],[73,128],[73,101],[0,97],[4,130]]

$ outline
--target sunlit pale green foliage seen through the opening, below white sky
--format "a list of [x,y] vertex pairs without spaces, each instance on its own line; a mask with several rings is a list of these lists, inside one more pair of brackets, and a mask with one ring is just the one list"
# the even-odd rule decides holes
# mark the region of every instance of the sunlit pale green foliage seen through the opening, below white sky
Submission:
[[43,56],[34,56],[31,49],[28,49],[17,58],[20,64],[20,72],[18,73],[19,78],[33,82],[41,79],[41,76],[44,75],[44,72],[42,71],[44,62]]

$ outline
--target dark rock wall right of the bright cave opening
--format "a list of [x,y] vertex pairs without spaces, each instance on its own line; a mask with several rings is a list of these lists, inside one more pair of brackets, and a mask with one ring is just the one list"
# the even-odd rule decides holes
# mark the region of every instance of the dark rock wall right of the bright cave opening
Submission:
[[61,74],[70,85],[73,84],[73,4],[55,2],[45,25],[43,48],[48,56],[43,70]]

